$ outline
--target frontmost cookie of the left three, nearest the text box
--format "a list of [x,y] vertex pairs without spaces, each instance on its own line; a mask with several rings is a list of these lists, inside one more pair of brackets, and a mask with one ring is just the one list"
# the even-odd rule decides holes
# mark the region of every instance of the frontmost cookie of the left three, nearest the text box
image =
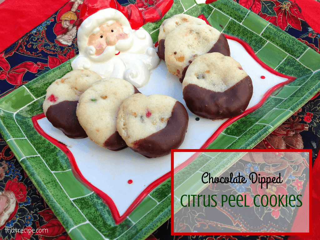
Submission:
[[188,120],[186,108],[174,98],[138,93],[122,103],[116,128],[128,147],[151,158],[180,147]]

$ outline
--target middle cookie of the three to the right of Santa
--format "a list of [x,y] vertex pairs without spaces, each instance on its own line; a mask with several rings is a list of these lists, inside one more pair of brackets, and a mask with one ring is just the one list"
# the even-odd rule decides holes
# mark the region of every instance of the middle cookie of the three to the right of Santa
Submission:
[[182,83],[189,64],[198,56],[220,52],[230,56],[226,37],[217,29],[195,22],[187,22],[171,31],[164,42],[164,58],[168,71]]

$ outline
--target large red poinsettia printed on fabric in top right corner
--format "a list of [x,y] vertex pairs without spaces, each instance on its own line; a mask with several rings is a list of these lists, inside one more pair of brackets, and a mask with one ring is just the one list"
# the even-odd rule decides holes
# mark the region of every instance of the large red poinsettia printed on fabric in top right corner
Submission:
[[302,16],[298,5],[289,1],[284,1],[283,3],[278,1],[273,2],[276,4],[273,9],[276,11],[277,15],[277,26],[282,30],[285,30],[289,24],[292,28],[301,31],[302,27],[300,20],[304,20],[304,17]]

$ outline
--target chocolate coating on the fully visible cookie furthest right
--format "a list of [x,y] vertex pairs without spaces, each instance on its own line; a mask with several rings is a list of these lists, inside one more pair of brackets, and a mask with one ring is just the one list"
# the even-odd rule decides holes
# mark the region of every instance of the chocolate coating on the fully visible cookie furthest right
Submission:
[[252,92],[252,80],[246,76],[224,92],[188,84],[183,89],[183,99],[189,110],[197,116],[222,119],[243,113],[249,105]]

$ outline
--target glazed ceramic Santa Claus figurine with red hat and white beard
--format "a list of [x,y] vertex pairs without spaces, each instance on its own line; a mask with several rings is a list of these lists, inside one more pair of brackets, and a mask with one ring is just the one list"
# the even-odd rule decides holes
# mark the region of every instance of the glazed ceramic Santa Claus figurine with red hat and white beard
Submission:
[[[164,13],[172,5],[168,0],[159,3]],[[133,4],[123,7],[114,0],[84,2],[77,33],[79,55],[71,63],[72,68],[90,69],[102,77],[122,78],[137,88],[147,84],[150,70],[159,63],[151,36],[141,28],[147,21],[155,21],[154,12],[161,12],[156,11],[158,6],[152,9],[140,12]],[[152,14],[147,17],[145,13],[150,10]]]

